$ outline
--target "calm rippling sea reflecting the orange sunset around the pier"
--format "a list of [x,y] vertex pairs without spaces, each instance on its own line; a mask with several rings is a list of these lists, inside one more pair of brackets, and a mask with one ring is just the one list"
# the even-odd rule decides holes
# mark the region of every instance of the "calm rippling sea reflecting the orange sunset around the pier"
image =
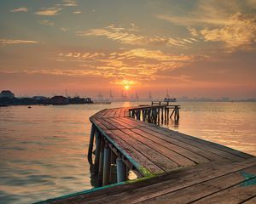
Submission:
[[[0,203],[32,203],[92,188],[89,117],[112,105],[0,108]],[[181,103],[169,128],[256,156],[256,103]]]

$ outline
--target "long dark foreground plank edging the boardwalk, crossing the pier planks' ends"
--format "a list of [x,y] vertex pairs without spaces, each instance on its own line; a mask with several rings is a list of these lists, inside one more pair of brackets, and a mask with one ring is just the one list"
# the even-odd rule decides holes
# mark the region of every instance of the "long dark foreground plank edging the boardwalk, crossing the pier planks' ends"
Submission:
[[[133,184],[125,184],[96,190],[87,194],[70,196],[50,203],[137,203],[160,195],[187,188],[194,184],[241,171],[256,165],[256,158],[242,162],[216,161],[200,164],[187,169],[146,179]],[[46,202],[46,203],[49,203]]]

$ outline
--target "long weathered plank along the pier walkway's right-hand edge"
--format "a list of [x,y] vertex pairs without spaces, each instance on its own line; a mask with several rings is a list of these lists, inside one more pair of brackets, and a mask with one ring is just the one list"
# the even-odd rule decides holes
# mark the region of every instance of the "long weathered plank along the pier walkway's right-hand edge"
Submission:
[[[231,154],[230,152],[225,151],[225,148],[223,150],[219,150],[219,149],[215,148],[214,145],[211,145],[212,143],[207,142],[206,140],[190,139],[189,137],[187,137],[184,134],[177,133],[177,132],[174,132],[174,131],[169,130],[169,129],[168,129],[168,131],[164,131],[163,127],[154,127],[154,128],[153,127],[146,127],[146,128],[148,128],[150,130],[153,130],[154,132],[161,133],[161,134],[167,135],[169,137],[172,137],[172,139],[177,139],[177,140],[182,141],[184,143],[187,143],[187,144],[193,145],[195,147],[201,148],[202,150],[210,151],[210,152],[212,152],[212,153],[214,153],[218,156],[221,156],[223,158],[226,158],[226,159],[230,159],[230,160],[234,160],[234,161],[241,161],[243,159],[240,156],[235,156],[235,155]],[[229,149],[229,148],[227,148],[227,149]]]

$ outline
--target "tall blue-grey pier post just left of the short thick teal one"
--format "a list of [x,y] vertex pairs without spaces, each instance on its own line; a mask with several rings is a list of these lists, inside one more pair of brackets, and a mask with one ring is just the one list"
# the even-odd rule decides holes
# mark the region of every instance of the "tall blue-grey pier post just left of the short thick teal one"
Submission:
[[108,144],[106,143],[104,148],[104,165],[103,165],[103,179],[102,179],[103,186],[109,184],[110,167],[111,167],[111,150],[108,147]]

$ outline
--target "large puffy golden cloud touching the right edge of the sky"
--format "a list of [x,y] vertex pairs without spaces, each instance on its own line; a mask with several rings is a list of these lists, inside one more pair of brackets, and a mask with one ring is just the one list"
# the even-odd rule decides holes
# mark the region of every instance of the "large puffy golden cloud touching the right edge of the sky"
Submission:
[[227,20],[229,26],[200,31],[205,41],[224,42],[227,51],[237,48],[252,49],[256,42],[256,14],[233,14]]

